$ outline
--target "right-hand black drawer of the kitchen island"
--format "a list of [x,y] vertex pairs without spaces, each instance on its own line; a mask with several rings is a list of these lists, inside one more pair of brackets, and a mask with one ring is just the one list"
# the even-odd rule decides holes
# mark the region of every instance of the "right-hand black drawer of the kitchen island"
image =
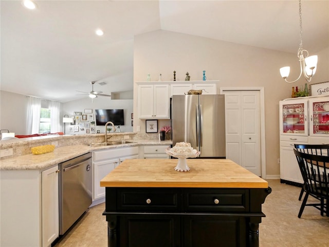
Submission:
[[184,193],[187,212],[245,212],[249,210],[246,189],[190,189]]

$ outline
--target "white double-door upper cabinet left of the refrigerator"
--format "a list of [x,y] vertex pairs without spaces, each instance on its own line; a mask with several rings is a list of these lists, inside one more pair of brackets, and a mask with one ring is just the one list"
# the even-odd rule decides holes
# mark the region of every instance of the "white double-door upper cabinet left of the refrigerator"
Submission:
[[138,113],[140,119],[170,119],[168,84],[139,84]]

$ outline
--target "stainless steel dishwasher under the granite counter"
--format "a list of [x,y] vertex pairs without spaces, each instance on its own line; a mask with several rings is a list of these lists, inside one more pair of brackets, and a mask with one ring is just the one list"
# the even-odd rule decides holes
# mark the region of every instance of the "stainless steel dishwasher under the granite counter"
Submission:
[[59,164],[60,235],[92,204],[92,153]]

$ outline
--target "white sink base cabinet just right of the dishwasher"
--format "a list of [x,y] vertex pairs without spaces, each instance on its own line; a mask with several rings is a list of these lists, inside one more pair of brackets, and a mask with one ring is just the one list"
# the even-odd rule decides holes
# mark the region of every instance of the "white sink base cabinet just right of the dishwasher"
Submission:
[[138,147],[111,148],[93,152],[93,201],[105,197],[100,181],[126,158],[138,158]]

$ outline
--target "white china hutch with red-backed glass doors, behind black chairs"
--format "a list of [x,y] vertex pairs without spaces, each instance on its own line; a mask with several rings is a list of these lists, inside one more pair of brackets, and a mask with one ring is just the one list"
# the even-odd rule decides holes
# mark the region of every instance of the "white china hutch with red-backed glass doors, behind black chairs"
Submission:
[[329,144],[329,96],[286,99],[280,107],[281,182],[303,184],[294,144]]

